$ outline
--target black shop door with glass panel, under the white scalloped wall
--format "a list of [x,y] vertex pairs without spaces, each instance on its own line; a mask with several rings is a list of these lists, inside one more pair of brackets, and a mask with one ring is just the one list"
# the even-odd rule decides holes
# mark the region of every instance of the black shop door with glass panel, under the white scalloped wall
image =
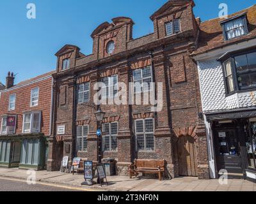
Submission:
[[218,171],[243,173],[241,148],[236,128],[218,129],[215,134]]

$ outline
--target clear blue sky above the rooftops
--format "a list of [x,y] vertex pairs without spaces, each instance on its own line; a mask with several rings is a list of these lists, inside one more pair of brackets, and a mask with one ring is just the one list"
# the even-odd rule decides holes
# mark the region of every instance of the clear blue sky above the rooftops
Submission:
[[[134,38],[153,32],[150,15],[167,0],[1,0],[0,82],[8,71],[15,83],[56,68],[54,54],[65,44],[92,53],[90,34],[102,22],[118,16],[131,17]],[[28,3],[36,5],[36,19],[26,18]],[[218,17],[220,3],[228,13],[255,4],[255,0],[195,0],[195,16],[202,20]]]

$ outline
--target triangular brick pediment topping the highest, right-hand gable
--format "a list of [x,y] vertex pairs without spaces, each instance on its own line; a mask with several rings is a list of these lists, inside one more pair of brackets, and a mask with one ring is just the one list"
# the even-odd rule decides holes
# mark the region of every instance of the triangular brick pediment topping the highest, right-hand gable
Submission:
[[161,15],[164,13],[166,10],[170,10],[170,7],[179,7],[179,6],[184,6],[186,4],[192,4],[195,6],[195,3],[193,0],[168,0],[159,10],[157,10],[151,17],[151,20],[154,20],[158,15]]

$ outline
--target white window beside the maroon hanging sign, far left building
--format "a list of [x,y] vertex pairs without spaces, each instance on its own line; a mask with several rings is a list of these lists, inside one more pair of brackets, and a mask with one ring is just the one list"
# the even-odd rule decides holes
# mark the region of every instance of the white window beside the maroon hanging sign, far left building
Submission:
[[2,117],[1,135],[15,134],[16,131],[16,116],[8,115]]

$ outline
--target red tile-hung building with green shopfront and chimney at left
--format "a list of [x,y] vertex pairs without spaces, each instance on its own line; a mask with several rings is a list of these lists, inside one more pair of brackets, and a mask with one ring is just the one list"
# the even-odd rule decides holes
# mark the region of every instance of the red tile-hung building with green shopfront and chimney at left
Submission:
[[0,91],[0,166],[42,170],[51,135],[52,73],[14,85],[8,73]]

